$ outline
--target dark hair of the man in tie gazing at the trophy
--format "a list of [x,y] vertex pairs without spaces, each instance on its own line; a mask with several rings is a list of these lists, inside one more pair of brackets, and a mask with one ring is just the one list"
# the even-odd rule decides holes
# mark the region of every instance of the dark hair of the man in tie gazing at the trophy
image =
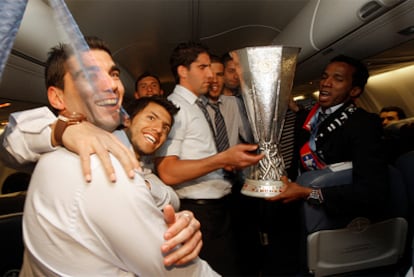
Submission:
[[182,65],[189,69],[201,53],[208,54],[207,46],[194,41],[180,43],[174,48],[170,57],[170,67],[176,84],[180,82],[177,72],[178,67]]

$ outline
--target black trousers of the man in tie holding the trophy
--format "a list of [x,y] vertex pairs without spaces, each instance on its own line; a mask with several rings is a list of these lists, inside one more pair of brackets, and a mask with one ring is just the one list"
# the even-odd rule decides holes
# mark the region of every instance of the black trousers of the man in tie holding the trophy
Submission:
[[222,199],[181,199],[181,210],[190,210],[201,223],[200,257],[223,276],[238,276],[237,251],[232,231],[230,196]]

